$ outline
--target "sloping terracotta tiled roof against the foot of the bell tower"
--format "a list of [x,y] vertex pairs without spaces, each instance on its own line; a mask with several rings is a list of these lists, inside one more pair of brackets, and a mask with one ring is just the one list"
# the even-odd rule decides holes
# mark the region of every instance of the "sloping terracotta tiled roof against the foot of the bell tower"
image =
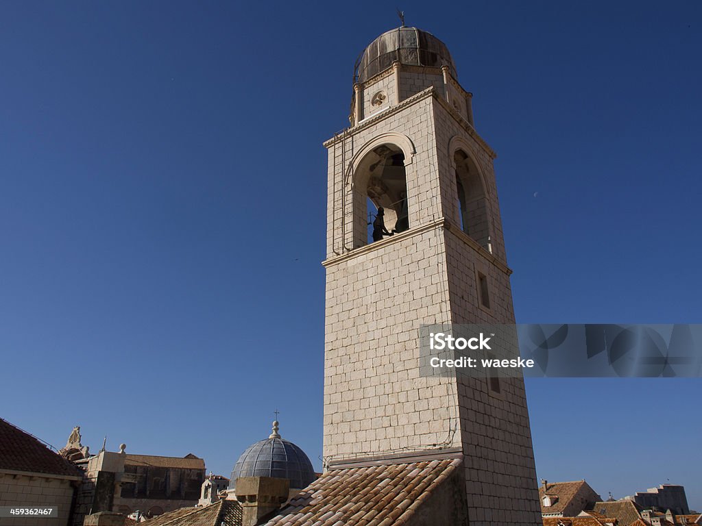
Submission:
[[266,526],[402,525],[459,464],[444,459],[332,469]]

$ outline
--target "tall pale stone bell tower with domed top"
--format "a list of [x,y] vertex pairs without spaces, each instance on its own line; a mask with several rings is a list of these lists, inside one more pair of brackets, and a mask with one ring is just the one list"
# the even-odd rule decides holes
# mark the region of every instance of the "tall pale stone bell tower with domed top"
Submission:
[[[420,325],[514,323],[495,153],[457,78],[439,39],[392,29],[356,65],[350,128],[324,143],[324,458],[455,454],[471,526],[536,525],[523,380],[419,372]],[[381,207],[395,234],[373,242]]]

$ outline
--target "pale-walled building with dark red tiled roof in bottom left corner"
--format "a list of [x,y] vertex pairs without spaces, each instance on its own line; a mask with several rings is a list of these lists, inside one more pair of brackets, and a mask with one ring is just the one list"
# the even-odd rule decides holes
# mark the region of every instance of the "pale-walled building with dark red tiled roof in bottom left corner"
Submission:
[[0,419],[0,506],[58,507],[58,518],[0,518],[0,526],[70,526],[82,479],[78,468],[38,438]]

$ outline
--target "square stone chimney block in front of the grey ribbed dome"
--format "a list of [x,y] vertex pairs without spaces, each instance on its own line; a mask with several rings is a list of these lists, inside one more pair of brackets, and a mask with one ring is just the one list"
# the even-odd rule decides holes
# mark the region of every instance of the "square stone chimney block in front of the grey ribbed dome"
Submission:
[[290,481],[286,478],[239,477],[237,500],[241,504],[241,526],[255,526],[260,518],[280,508],[288,500]]

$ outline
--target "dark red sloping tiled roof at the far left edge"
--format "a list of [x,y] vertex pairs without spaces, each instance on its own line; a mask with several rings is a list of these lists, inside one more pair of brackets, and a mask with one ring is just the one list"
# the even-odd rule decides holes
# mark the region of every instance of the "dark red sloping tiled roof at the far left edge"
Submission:
[[83,472],[38,438],[0,418],[0,469],[82,477]]

